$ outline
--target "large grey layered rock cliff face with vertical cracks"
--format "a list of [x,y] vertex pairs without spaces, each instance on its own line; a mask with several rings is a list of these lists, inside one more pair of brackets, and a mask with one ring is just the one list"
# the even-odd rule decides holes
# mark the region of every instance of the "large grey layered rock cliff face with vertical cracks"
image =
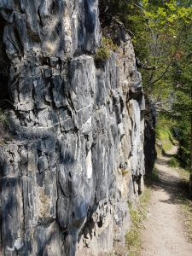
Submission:
[[0,0],[0,10],[15,106],[0,148],[0,254],[108,252],[125,242],[144,174],[131,38],[112,28],[119,50],[96,63],[97,0]]

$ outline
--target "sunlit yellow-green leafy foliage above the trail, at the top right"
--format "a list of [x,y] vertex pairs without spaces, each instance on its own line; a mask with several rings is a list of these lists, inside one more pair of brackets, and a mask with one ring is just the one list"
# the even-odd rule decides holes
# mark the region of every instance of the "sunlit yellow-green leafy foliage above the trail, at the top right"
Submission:
[[100,0],[99,4],[102,24],[108,15],[123,22],[131,34],[137,57],[148,66],[159,67],[158,70],[142,72],[143,85],[154,84],[157,79],[162,82],[161,78],[171,68],[170,63],[179,50],[183,28],[191,24],[191,3]]

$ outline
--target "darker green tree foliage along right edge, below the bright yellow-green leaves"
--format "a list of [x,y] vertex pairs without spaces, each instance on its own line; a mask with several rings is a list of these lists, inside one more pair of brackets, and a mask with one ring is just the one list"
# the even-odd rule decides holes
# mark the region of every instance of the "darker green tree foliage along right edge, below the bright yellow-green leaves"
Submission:
[[[192,119],[192,27],[186,26],[185,37],[182,40],[183,56],[178,58],[173,66],[173,79],[177,81],[175,100],[172,106],[176,129],[179,131],[178,157],[183,168],[189,170],[191,161],[190,138]],[[191,170],[192,171],[192,170]]]

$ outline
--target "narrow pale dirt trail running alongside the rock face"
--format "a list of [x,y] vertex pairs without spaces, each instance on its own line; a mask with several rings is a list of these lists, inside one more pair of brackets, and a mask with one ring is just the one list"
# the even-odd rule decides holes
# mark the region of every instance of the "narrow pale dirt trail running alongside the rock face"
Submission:
[[183,214],[177,204],[177,172],[168,166],[168,160],[177,148],[157,160],[160,180],[154,184],[148,218],[144,221],[141,256],[191,256],[192,243],[184,230]]

